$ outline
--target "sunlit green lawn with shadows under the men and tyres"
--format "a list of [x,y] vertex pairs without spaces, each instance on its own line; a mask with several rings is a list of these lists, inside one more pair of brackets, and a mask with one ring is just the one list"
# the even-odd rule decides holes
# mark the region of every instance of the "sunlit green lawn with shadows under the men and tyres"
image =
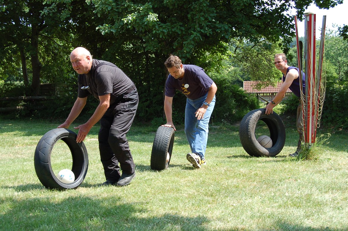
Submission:
[[[33,156],[39,139],[58,124],[1,120],[0,230],[348,230],[345,134],[332,133],[316,161],[298,161],[288,157],[297,145],[295,124],[286,124],[283,151],[256,158],[240,145],[238,126],[214,123],[207,165],[194,169],[176,125],[171,164],[158,172],[150,168],[157,127],[133,125],[128,140],[136,178],[125,187],[97,187],[105,178],[95,126],[84,142],[84,182],[56,191],[39,182]],[[54,147],[57,171],[71,164],[64,145]]]

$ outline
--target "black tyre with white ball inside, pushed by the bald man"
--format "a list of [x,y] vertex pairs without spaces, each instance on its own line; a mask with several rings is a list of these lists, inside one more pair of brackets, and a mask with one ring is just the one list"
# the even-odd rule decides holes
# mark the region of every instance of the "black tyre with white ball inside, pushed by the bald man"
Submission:
[[[66,190],[77,188],[85,179],[88,169],[88,153],[83,142],[76,143],[77,134],[65,128],[48,131],[40,139],[35,149],[34,167],[42,185],[48,189]],[[51,152],[58,140],[64,141],[72,155],[71,171],[75,180],[71,184],[61,182],[54,174],[51,166]]]

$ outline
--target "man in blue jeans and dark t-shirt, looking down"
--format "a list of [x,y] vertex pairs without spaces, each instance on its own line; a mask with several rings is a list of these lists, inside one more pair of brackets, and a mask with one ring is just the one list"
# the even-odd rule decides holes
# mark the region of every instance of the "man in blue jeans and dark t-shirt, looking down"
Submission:
[[216,84],[203,68],[183,65],[179,57],[171,55],[164,63],[169,75],[166,81],[164,111],[167,123],[162,126],[175,129],[172,120],[172,103],[176,90],[186,97],[185,134],[191,152],[186,159],[195,168],[206,164],[205,150],[208,141],[208,124],[215,106]]

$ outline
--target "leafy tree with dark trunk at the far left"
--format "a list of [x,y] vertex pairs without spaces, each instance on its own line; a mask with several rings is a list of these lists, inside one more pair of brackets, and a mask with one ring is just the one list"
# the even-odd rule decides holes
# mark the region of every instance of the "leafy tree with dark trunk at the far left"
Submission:
[[[0,4],[1,66],[10,66],[12,74],[20,73],[18,66],[21,66],[21,74],[26,84],[29,83],[30,72],[33,95],[39,94],[42,70],[47,71],[49,66],[51,69],[49,75],[52,75],[52,69],[59,70],[62,65],[60,51],[67,46],[70,47],[69,39],[64,39],[66,34],[62,35],[63,30],[60,30],[61,25],[57,15],[41,15],[44,7],[45,2],[41,0],[2,0]],[[13,60],[8,62],[10,56]],[[42,63],[42,60],[52,60],[53,57],[55,59],[53,63],[49,65]],[[30,59],[30,66],[27,64],[27,59]],[[1,74],[2,78],[6,78],[5,72]]]

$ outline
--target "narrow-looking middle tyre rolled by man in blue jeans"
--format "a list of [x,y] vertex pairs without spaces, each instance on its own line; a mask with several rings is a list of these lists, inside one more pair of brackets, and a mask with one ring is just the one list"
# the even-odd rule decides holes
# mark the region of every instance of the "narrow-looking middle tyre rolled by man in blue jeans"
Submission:
[[[159,126],[153,140],[151,151],[151,169],[164,170],[169,167],[172,159],[172,151],[174,144],[174,129],[171,127]],[[167,162],[167,153],[169,153],[169,161]]]

